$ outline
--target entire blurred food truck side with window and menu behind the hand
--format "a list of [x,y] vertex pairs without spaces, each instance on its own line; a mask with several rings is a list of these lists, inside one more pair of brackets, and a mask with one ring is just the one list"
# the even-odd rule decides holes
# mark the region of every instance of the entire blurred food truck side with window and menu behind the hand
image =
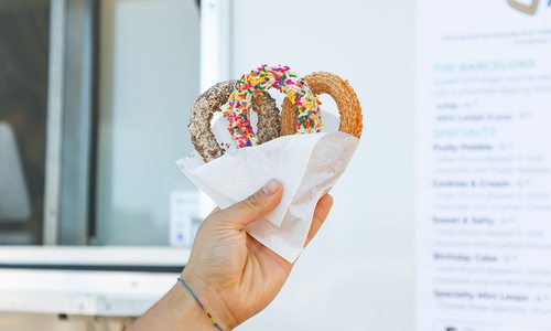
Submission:
[[348,79],[366,129],[239,330],[551,330],[550,7],[0,1],[0,329],[123,330],[155,302],[210,207],[174,163],[188,109],[268,63]]

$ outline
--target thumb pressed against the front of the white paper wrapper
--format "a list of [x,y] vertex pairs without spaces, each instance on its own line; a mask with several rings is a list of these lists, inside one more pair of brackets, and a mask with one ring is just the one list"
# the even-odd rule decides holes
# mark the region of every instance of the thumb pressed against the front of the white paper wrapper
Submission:
[[217,220],[244,229],[250,223],[268,215],[281,201],[283,186],[278,180],[270,180],[257,193],[217,213]]

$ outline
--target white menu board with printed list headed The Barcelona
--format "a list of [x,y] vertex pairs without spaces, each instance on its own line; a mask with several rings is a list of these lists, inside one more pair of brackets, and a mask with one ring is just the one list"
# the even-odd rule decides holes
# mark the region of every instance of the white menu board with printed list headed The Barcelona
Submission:
[[551,1],[418,6],[417,330],[551,330]]

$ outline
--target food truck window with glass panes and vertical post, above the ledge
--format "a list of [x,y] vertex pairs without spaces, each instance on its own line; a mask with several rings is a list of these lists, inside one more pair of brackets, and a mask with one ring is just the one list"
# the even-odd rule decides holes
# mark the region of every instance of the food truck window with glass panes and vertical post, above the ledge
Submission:
[[0,1],[0,244],[190,246],[195,0]]

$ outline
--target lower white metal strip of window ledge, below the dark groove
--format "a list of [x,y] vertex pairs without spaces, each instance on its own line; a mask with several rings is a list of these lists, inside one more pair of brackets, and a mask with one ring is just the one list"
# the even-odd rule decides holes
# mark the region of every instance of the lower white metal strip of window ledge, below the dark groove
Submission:
[[2,270],[0,311],[138,317],[176,277],[177,273]]

